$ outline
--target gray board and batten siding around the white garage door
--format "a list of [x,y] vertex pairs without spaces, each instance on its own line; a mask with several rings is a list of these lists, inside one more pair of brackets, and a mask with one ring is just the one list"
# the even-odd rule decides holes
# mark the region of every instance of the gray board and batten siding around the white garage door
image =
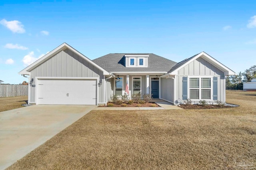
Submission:
[[[40,64],[30,72],[30,80],[35,77],[98,77],[104,81],[103,72],[88,61],[65,49]],[[35,102],[35,88],[30,88],[30,102]],[[86,88],[86,87],[85,87]],[[99,87],[99,103],[104,102],[104,83]]]

